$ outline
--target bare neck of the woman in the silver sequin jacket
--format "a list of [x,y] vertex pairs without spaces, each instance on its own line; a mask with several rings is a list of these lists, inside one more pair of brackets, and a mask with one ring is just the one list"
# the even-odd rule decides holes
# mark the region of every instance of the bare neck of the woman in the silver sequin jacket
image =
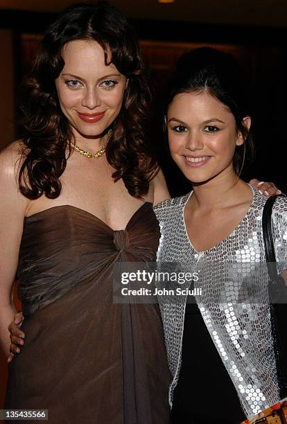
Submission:
[[224,209],[250,197],[250,188],[238,179],[233,168],[203,183],[193,183],[191,203],[196,209]]

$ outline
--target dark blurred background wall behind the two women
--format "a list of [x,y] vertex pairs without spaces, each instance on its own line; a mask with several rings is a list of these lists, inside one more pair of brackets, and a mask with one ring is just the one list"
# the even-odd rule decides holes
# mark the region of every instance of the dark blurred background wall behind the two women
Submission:
[[[0,149],[21,136],[15,122],[17,87],[31,67],[44,30],[62,8],[77,2],[0,0]],[[159,111],[163,107],[166,79],[177,58],[198,46],[214,46],[234,54],[250,78],[257,154],[245,179],[272,181],[287,192],[287,2],[111,0],[110,3],[125,13],[141,40],[143,58],[155,87],[157,113],[154,113],[152,136],[159,146],[159,161],[171,194],[186,193],[189,183],[168,157]],[[3,358],[0,358],[0,377],[1,408],[6,384]]]

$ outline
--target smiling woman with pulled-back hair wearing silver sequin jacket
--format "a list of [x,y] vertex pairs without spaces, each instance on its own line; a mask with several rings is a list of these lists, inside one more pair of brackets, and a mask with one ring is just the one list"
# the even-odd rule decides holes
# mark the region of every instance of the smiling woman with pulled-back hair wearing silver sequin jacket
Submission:
[[[200,270],[193,283],[202,288],[195,304],[159,296],[174,423],[240,423],[280,398],[262,266],[266,197],[240,178],[252,154],[246,87],[232,56],[200,48],[180,58],[168,90],[168,143],[193,191],[155,206],[157,260]],[[272,220],[284,276],[286,198],[277,199]],[[259,294],[250,283],[255,270]]]

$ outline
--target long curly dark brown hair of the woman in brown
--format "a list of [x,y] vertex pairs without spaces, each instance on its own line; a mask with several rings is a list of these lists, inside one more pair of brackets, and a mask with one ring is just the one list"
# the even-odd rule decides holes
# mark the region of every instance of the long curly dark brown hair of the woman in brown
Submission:
[[20,91],[26,146],[19,168],[20,191],[32,200],[42,194],[51,199],[60,195],[60,176],[74,140],[71,125],[60,108],[55,79],[64,67],[62,48],[76,39],[98,42],[106,64],[113,63],[129,80],[106,155],[115,169],[115,181],[122,178],[128,193],[141,198],[148,192],[150,179],[157,170],[148,137],[151,94],[134,30],[121,12],[106,2],[67,8],[40,43],[33,68]]

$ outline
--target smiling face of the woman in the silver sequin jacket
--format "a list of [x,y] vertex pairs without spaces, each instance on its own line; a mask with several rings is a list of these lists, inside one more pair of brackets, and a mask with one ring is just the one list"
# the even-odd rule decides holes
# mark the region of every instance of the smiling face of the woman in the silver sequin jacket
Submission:
[[191,182],[235,174],[234,150],[243,144],[243,136],[219,100],[207,92],[177,94],[168,107],[167,127],[173,160]]

